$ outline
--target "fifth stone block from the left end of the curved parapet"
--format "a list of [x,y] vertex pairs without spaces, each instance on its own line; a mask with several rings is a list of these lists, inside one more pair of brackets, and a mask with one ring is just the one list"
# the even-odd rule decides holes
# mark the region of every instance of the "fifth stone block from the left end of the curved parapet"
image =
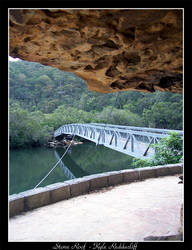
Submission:
[[98,174],[90,179],[90,191],[108,186],[108,175]]

